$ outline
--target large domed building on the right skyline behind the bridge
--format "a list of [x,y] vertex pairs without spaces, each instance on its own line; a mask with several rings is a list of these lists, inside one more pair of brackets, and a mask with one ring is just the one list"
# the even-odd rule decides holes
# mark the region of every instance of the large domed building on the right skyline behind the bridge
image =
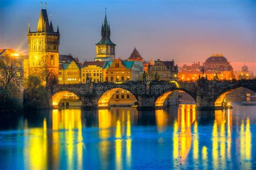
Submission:
[[204,63],[206,70],[231,71],[233,67],[223,54],[212,54]]

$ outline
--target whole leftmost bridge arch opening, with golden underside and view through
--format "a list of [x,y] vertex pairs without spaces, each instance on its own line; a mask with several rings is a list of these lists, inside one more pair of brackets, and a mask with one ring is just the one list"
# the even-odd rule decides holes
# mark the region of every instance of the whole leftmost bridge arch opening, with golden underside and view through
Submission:
[[[60,103],[60,101],[62,101],[62,103]],[[75,93],[72,93],[71,91],[59,91],[54,95],[52,95],[53,108],[58,108],[59,106],[62,107],[66,105],[81,106],[82,102],[80,98]]]

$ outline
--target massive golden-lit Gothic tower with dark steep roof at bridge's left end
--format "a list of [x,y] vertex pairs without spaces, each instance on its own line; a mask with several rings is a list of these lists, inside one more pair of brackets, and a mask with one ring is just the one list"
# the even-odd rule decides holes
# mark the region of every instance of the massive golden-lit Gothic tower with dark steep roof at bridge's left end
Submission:
[[46,9],[41,9],[37,31],[31,32],[30,25],[28,29],[29,75],[38,76],[45,85],[58,82],[59,38],[59,28],[53,30]]

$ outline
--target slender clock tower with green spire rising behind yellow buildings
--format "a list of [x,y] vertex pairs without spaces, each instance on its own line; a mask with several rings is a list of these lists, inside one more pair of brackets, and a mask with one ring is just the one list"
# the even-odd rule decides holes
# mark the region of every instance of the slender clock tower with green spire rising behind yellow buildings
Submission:
[[104,24],[102,25],[102,40],[96,44],[95,61],[113,61],[116,55],[115,47],[116,44],[110,40],[110,25],[107,24],[105,13]]

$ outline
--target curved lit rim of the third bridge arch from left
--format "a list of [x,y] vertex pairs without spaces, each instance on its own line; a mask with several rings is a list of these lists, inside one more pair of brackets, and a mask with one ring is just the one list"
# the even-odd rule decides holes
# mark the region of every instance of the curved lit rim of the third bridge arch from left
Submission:
[[166,93],[163,93],[159,97],[157,97],[156,102],[155,102],[155,106],[156,107],[164,107],[165,101],[167,100],[167,98],[170,95],[172,95],[174,92],[178,92],[178,91],[183,91],[186,94],[190,95],[193,98],[193,100],[196,102],[196,97],[191,95],[190,91],[187,91],[186,89],[173,88],[171,91],[167,91]]

